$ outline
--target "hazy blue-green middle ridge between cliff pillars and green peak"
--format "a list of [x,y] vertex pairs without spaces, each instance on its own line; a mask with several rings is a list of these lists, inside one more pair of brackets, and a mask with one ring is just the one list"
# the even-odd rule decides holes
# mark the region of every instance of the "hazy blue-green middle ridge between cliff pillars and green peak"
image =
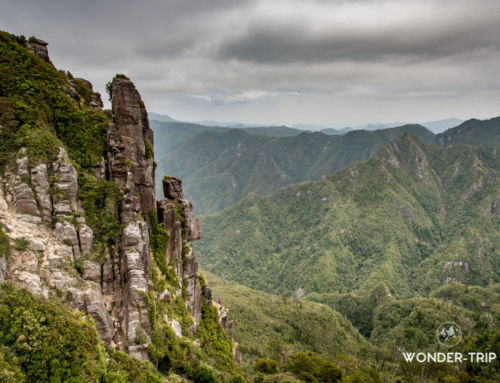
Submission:
[[432,133],[418,125],[342,136],[303,132],[292,137],[263,137],[246,130],[205,131],[167,153],[158,171],[182,178],[197,212],[213,213],[250,192],[269,194],[368,159],[405,133],[425,142],[434,140]]

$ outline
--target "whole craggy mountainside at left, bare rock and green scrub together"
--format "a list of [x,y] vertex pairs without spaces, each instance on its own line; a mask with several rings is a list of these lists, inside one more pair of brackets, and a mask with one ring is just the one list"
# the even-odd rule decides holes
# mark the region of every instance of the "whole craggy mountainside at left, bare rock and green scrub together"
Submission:
[[198,275],[192,205],[175,180],[156,201],[144,103],[124,75],[107,90],[112,111],[46,43],[0,32],[0,282],[59,297],[164,376],[229,380],[237,345]]

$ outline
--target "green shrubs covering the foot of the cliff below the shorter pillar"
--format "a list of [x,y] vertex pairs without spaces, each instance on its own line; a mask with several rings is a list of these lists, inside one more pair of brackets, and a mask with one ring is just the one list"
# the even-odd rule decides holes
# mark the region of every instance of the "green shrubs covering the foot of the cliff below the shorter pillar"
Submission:
[[[169,273],[168,278],[165,278],[157,266],[156,259],[153,259],[151,276],[154,291],[150,291],[147,297],[152,325],[148,352],[158,370],[165,375],[175,374],[195,382],[228,382],[232,377],[242,376],[242,372],[232,360],[232,341],[218,323],[215,308],[203,304],[203,318],[196,332],[200,341],[198,346],[191,332],[193,319],[183,298],[155,298],[155,295],[158,296],[165,289],[169,289],[175,296],[174,286],[178,282],[176,279],[168,279],[175,278],[175,274]],[[165,317],[180,322],[183,338],[177,337]]]

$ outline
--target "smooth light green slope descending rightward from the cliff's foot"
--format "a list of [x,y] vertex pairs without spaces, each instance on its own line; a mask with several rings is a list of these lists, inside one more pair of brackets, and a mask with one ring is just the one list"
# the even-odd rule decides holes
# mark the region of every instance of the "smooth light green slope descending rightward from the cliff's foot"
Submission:
[[355,356],[368,347],[349,321],[326,305],[266,294],[211,273],[205,277],[235,320],[233,336],[247,365],[269,357],[273,344],[290,353],[314,351],[327,358]]

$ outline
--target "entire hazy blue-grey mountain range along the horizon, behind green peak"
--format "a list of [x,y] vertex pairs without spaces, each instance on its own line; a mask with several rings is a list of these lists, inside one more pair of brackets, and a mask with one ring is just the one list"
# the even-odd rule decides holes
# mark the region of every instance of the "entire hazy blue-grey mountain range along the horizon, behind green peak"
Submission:
[[163,174],[182,178],[196,212],[204,214],[236,203],[248,193],[269,194],[369,159],[405,133],[447,146],[494,143],[500,118],[469,120],[437,136],[420,125],[343,135],[287,127],[230,129],[155,121],[151,127],[156,137],[158,182]]

